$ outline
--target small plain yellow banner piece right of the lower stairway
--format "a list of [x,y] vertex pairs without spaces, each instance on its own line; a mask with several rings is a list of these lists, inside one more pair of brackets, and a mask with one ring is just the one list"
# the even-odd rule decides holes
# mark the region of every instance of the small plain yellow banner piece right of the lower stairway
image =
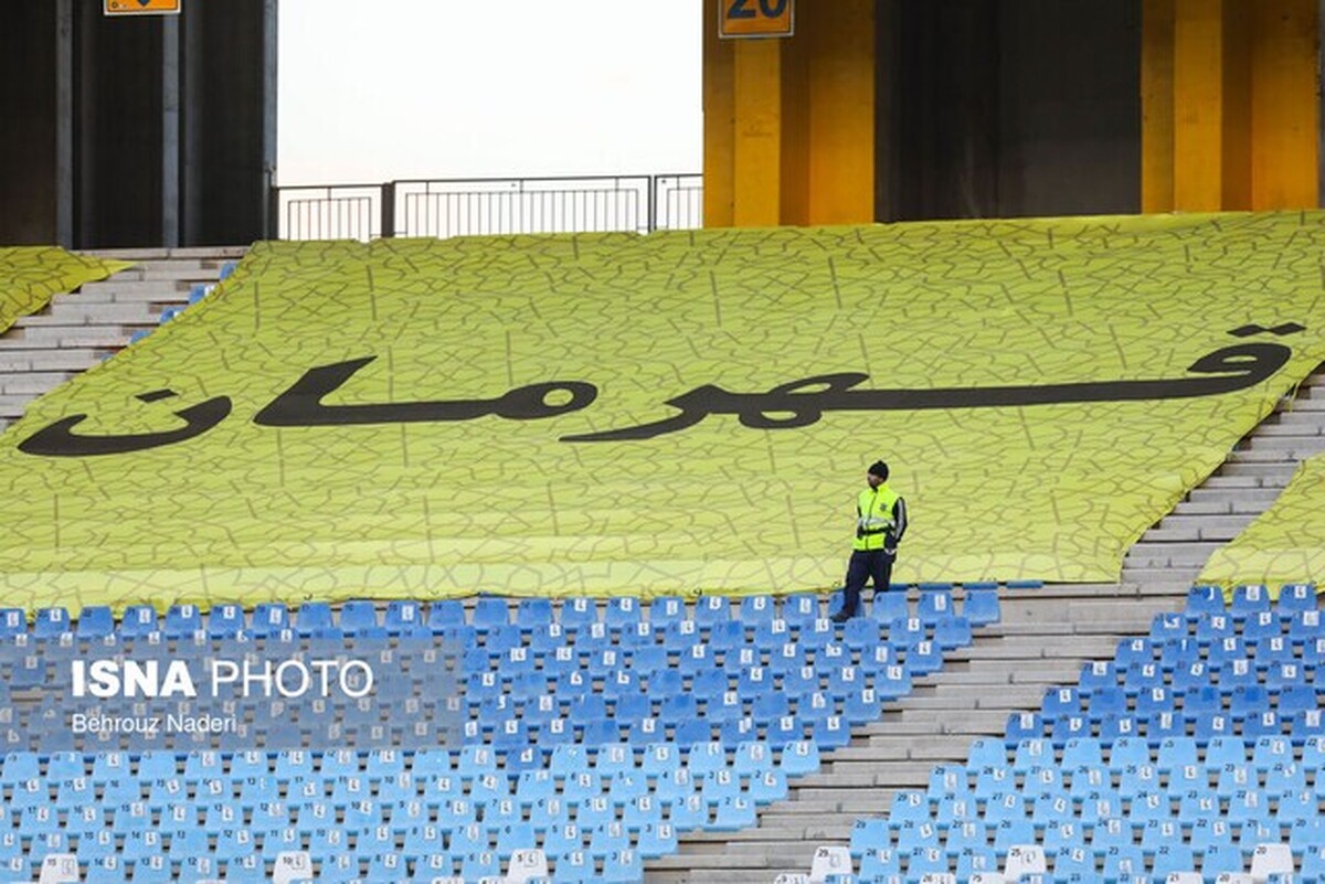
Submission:
[[1239,584],[1325,586],[1325,457],[1302,463],[1292,482],[1246,531],[1220,547],[1200,572],[1231,596]]

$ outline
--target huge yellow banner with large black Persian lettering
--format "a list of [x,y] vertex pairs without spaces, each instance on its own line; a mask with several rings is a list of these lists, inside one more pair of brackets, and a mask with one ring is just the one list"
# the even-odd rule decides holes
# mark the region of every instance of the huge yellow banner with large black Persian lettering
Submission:
[[1325,357],[1325,213],[266,243],[0,438],[0,601],[1108,581]]

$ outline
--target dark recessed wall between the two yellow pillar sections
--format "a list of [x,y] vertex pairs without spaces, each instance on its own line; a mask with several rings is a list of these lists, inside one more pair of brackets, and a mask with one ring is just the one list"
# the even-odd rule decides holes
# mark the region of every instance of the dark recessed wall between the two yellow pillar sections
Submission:
[[1140,0],[880,0],[881,220],[1140,209]]

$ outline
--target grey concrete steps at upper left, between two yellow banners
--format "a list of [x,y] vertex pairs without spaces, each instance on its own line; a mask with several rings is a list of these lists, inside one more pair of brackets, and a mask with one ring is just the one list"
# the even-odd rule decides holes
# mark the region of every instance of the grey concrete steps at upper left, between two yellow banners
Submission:
[[139,330],[155,328],[167,307],[188,302],[195,283],[216,282],[221,266],[244,247],[89,251],[135,262],[109,279],[56,295],[0,335],[0,430],[23,417],[28,402],[113,356]]

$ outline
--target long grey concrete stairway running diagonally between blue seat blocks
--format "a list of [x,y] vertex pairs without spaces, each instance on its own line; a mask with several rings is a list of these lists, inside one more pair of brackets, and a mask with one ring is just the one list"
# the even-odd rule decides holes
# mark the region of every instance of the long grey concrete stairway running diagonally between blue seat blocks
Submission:
[[845,844],[855,820],[885,817],[898,789],[924,789],[934,765],[965,762],[974,738],[1002,736],[1011,713],[1039,708],[1049,687],[1075,683],[1085,663],[1112,658],[1155,614],[1181,610],[1210,553],[1273,503],[1301,461],[1325,451],[1322,369],[1142,536],[1120,584],[1000,592],[1002,623],[825,754],[820,773],[795,781],[758,827],[689,835],[677,855],[648,864],[645,880],[771,883],[808,872],[815,847]]

